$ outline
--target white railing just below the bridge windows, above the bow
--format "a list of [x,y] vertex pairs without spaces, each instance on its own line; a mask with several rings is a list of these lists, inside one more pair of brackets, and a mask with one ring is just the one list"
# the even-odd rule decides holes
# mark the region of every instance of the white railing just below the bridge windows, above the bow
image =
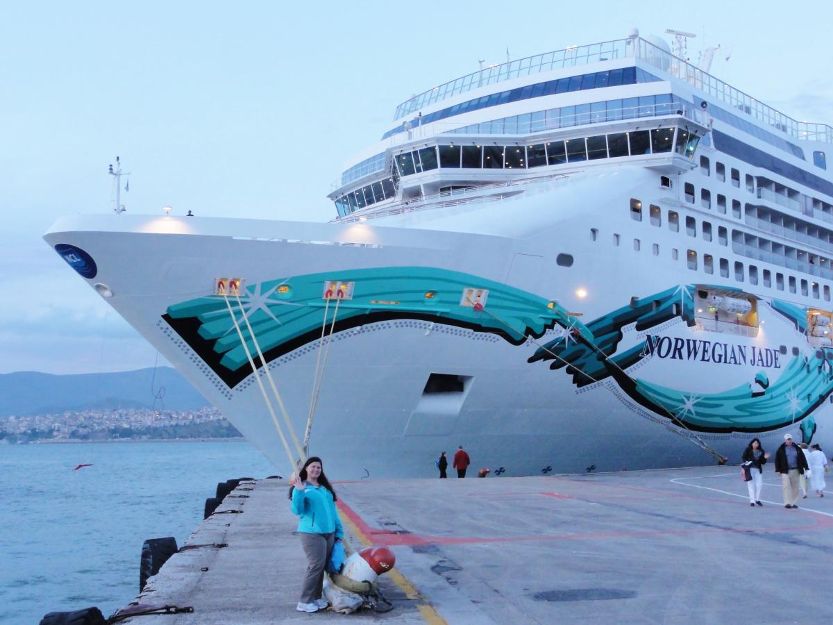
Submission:
[[[426,209],[449,208],[472,202],[497,202],[506,198],[514,198],[520,193],[524,193],[524,188],[531,184],[551,183],[566,178],[569,178],[569,174],[553,173],[547,176],[518,178],[501,183],[475,184],[471,185],[471,187],[457,188],[452,191],[443,191],[419,198],[402,200],[380,208],[357,211],[344,217],[332,219],[332,223],[364,222],[367,219],[402,215],[404,213],[413,213]],[[522,188],[512,189],[516,187]],[[506,193],[492,193],[501,189],[506,189]]]

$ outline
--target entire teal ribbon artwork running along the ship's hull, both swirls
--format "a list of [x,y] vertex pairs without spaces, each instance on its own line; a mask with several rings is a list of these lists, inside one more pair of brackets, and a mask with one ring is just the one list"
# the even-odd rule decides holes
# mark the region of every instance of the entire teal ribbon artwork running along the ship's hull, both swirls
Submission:
[[[352,283],[351,297],[338,301],[337,309],[335,299],[328,302],[324,297],[324,285],[333,281]],[[642,408],[692,430],[764,432],[801,423],[803,438],[809,442],[816,431],[810,415],[833,393],[833,370],[823,357],[792,358],[775,383],[759,371],[756,388],[744,384],[701,395],[626,373],[650,358],[650,350],[643,341],[618,353],[622,328],[635,324],[636,331],[645,331],[675,318],[694,326],[695,288],[679,285],[635,299],[585,325],[556,302],[468,273],[426,267],[367,268],[257,283],[247,286],[239,299],[195,298],[170,306],[163,318],[230,388],[252,373],[232,315],[249,353],[257,354],[256,338],[267,363],[317,341],[322,328],[329,332],[331,326],[342,332],[367,323],[418,319],[495,334],[516,346],[559,326],[565,332],[541,345],[528,362],[565,369],[576,388],[612,379]],[[466,303],[466,289],[487,291],[485,308]],[[806,309],[780,302],[773,302],[771,308],[797,330],[806,328]],[[259,359],[255,361],[260,366]]]

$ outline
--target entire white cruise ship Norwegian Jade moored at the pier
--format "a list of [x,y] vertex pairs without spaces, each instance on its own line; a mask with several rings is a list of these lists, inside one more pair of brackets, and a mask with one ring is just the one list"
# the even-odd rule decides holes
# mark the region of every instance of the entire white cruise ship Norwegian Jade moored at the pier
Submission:
[[833,128],[684,57],[633,31],[431,86],[347,163],[329,223],[117,210],[44,238],[287,472],[825,448]]

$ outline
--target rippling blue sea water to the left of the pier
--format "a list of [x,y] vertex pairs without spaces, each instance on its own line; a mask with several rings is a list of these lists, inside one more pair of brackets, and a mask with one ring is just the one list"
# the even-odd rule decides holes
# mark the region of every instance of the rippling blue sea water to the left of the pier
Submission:
[[109,616],[138,594],[142,542],[182,545],[218,482],[275,473],[243,442],[0,444],[0,622]]

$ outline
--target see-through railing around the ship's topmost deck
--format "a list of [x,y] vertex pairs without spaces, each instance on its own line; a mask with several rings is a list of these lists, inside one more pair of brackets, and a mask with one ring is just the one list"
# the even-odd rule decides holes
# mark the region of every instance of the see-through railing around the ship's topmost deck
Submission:
[[[576,67],[612,59],[633,58],[665,72],[671,77],[691,84],[715,99],[725,102],[751,117],[776,128],[788,136],[803,141],[833,143],[833,127],[823,123],[799,122],[783,112],[758,101],[735,87],[719,80],[701,68],[642,37],[627,37],[586,46],[571,46],[554,52],[536,54],[516,61],[500,63],[444,82],[416,95],[397,106],[395,120],[420,111],[435,102],[460,95],[498,82],[549,72],[563,67]],[[416,124],[415,119],[412,123]]]

